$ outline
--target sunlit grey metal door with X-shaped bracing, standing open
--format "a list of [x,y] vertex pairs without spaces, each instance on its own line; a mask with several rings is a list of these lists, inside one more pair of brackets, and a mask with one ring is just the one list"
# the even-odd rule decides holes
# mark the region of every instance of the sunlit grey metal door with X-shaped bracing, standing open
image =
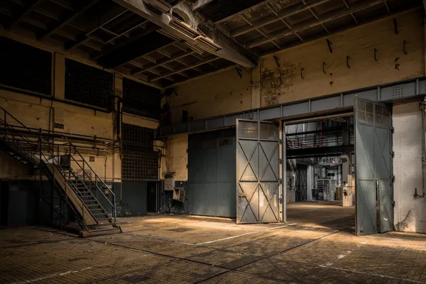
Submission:
[[278,124],[236,121],[236,223],[279,222]]

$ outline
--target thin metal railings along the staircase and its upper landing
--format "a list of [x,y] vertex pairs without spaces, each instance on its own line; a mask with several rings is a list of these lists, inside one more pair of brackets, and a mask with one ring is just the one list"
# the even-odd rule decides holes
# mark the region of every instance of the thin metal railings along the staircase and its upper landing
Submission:
[[[14,151],[16,151],[17,153],[19,153],[19,155],[23,155],[26,160],[28,160],[28,162],[33,163],[33,165],[40,165],[40,169],[42,168],[47,168],[47,166],[45,164],[49,164],[52,165],[53,168],[55,168],[55,170],[58,170],[58,173],[60,173],[60,175],[62,175],[62,178],[64,178],[67,182],[68,185],[70,185],[70,187],[72,188],[72,190],[75,191],[75,193],[77,193],[78,195],[78,190],[77,188],[75,188],[71,182],[70,182],[70,178],[67,178],[66,175],[63,173],[63,169],[60,167],[60,151],[58,148],[58,151],[55,155],[55,149],[53,146],[53,143],[50,142],[45,142],[43,141],[42,138],[42,131],[41,129],[36,132],[30,128],[28,128],[26,125],[24,125],[21,121],[19,121],[18,119],[16,119],[15,116],[13,116],[12,114],[9,113],[9,111],[6,111],[6,109],[4,109],[3,107],[0,107],[0,110],[4,112],[3,115],[3,119],[0,118],[0,125],[3,126],[3,129],[1,129],[0,131],[0,135],[2,135],[4,137],[4,139],[6,140],[6,142],[11,142],[8,143],[8,146],[10,148],[12,148]],[[1,117],[1,116],[0,116]],[[8,118],[9,121],[11,121],[11,123],[8,123]],[[18,125],[16,125],[18,124]],[[20,131],[17,131],[17,129],[25,129],[27,133],[31,133],[32,137],[37,138],[37,140],[32,140],[28,137],[30,136],[23,136]],[[19,139],[15,139],[15,137],[18,137]],[[93,187],[96,187],[95,189],[97,190],[97,192],[101,192],[102,196],[104,196],[105,199],[107,199],[109,205],[111,205],[111,215],[112,217],[114,217],[114,222],[116,222],[116,207],[115,207],[115,195],[114,192],[111,191],[111,189],[105,184],[104,180],[102,180],[102,178],[99,178],[99,175],[97,175],[97,173],[92,169],[92,167],[87,163],[86,160],[84,160],[84,158],[82,157],[82,155],[79,153],[79,151],[77,151],[77,147],[75,145],[73,145],[72,143],[65,143],[62,146],[68,146],[69,148],[69,154],[68,156],[70,157],[70,160],[73,160],[79,168],[82,169],[82,173],[83,173],[83,179],[82,182],[89,182],[90,185],[92,185]],[[51,150],[53,149],[53,151]],[[81,162],[82,164],[80,164],[79,160],[76,160],[75,157],[72,155],[72,153],[77,154],[78,157],[81,158]],[[53,161],[53,163],[48,163],[49,161]],[[94,175],[94,179],[92,178],[92,174],[88,175],[87,171],[89,170],[91,173],[93,173]],[[45,170],[45,174],[46,175],[50,175],[50,178],[53,178],[53,180],[55,180],[55,173],[49,173],[50,170],[46,169]],[[52,176],[53,175],[53,176]],[[41,179],[41,176],[40,176]],[[107,189],[109,193],[111,193],[111,197],[112,197],[112,202],[109,200],[109,198],[104,194],[104,192],[102,191],[101,188],[99,188],[98,186],[98,182],[101,183],[102,188]],[[71,204],[69,202],[69,200],[67,199],[67,195],[63,195],[62,190],[59,190],[62,197],[65,197],[65,202],[67,202],[67,204]],[[99,196],[99,195],[97,195]],[[99,204],[100,207],[102,207],[102,204],[100,204],[99,200],[97,198],[95,198],[97,203]],[[82,206],[82,218],[80,218],[77,214],[77,212],[75,212],[75,209],[71,206],[72,210],[75,212],[75,216],[77,217],[77,222],[84,228],[87,229],[85,221],[84,221],[84,202],[83,200],[81,200],[81,206]],[[75,206],[77,206],[77,204],[74,204]],[[102,207],[102,209],[104,209],[104,207]],[[56,212],[58,212],[55,209]],[[107,212],[104,209],[104,212]],[[58,214],[60,214],[60,212],[58,212]],[[62,214],[60,214],[60,216],[62,217]]]

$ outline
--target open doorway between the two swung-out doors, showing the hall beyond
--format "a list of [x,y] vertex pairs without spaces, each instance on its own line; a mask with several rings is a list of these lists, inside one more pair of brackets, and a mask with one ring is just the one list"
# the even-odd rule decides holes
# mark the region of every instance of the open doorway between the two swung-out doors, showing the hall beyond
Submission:
[[288,222],[355,225],[354,116],[285,124]]

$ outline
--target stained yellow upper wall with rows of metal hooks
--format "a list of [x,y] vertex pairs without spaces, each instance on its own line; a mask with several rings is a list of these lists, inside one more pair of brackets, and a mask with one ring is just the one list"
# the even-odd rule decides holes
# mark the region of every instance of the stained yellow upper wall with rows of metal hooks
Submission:
[[[265,87],[261,88],[261,106],[425,75],[424,14],[424,9],[419,8],[330,35],[333,53],[322,38],[273,54],[280,59],[280,67],[273,55],[261,58],[261,81]],[[398,35],[393,18],[398,22]],[[350,57],[350,68],[346,66],[346,55]],[[326,63],[326,74],[322,62]],[[305,69],[305,79],[300,75],[301,68]]]

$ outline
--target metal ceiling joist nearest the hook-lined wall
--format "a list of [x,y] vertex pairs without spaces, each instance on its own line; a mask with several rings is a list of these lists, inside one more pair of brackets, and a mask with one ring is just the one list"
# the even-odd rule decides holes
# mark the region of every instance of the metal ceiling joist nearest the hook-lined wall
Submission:
[[381,4],[386,0],[375,0],[375,1],[368,1],[368,3],[366,3],[365,1],[363,3],[359,3],[357,2],[356,4],[354,4],[353,6],[351,6],[350,9],[347,9],[346,7],[343,7],[342,9],[338,9],[337,11],[332,11],[329,13],[325,13],[324,15],[321,15],[318,17],[318,19],[313,19],[310,21],[305,21],[302,23],[296,23],[294,26],[292,26],[292,29],[290,31],[286,30],[279,30],[279,31],[275,31],[273,33],[269,34],[269,38],[256,38],[254,40],[250,40],[249,42],[247,42],[247,47],[248,48],[254,48],[258,45],[262,45],[264,43],[268,43],[271,40],[275,40],[277,38],[283,38],[287,35],[291,35],[293,33],[297,33],[300,31],[304,31],[307,28],[312,28],[313,26],[320,26],[328,21],[332,21],[334,19],[343,17],[343,16],[348,16],[351,13],[354,13],[356,11],[361,11],[363,9],[366,9],[368,7],[377,5],[377,4]]

